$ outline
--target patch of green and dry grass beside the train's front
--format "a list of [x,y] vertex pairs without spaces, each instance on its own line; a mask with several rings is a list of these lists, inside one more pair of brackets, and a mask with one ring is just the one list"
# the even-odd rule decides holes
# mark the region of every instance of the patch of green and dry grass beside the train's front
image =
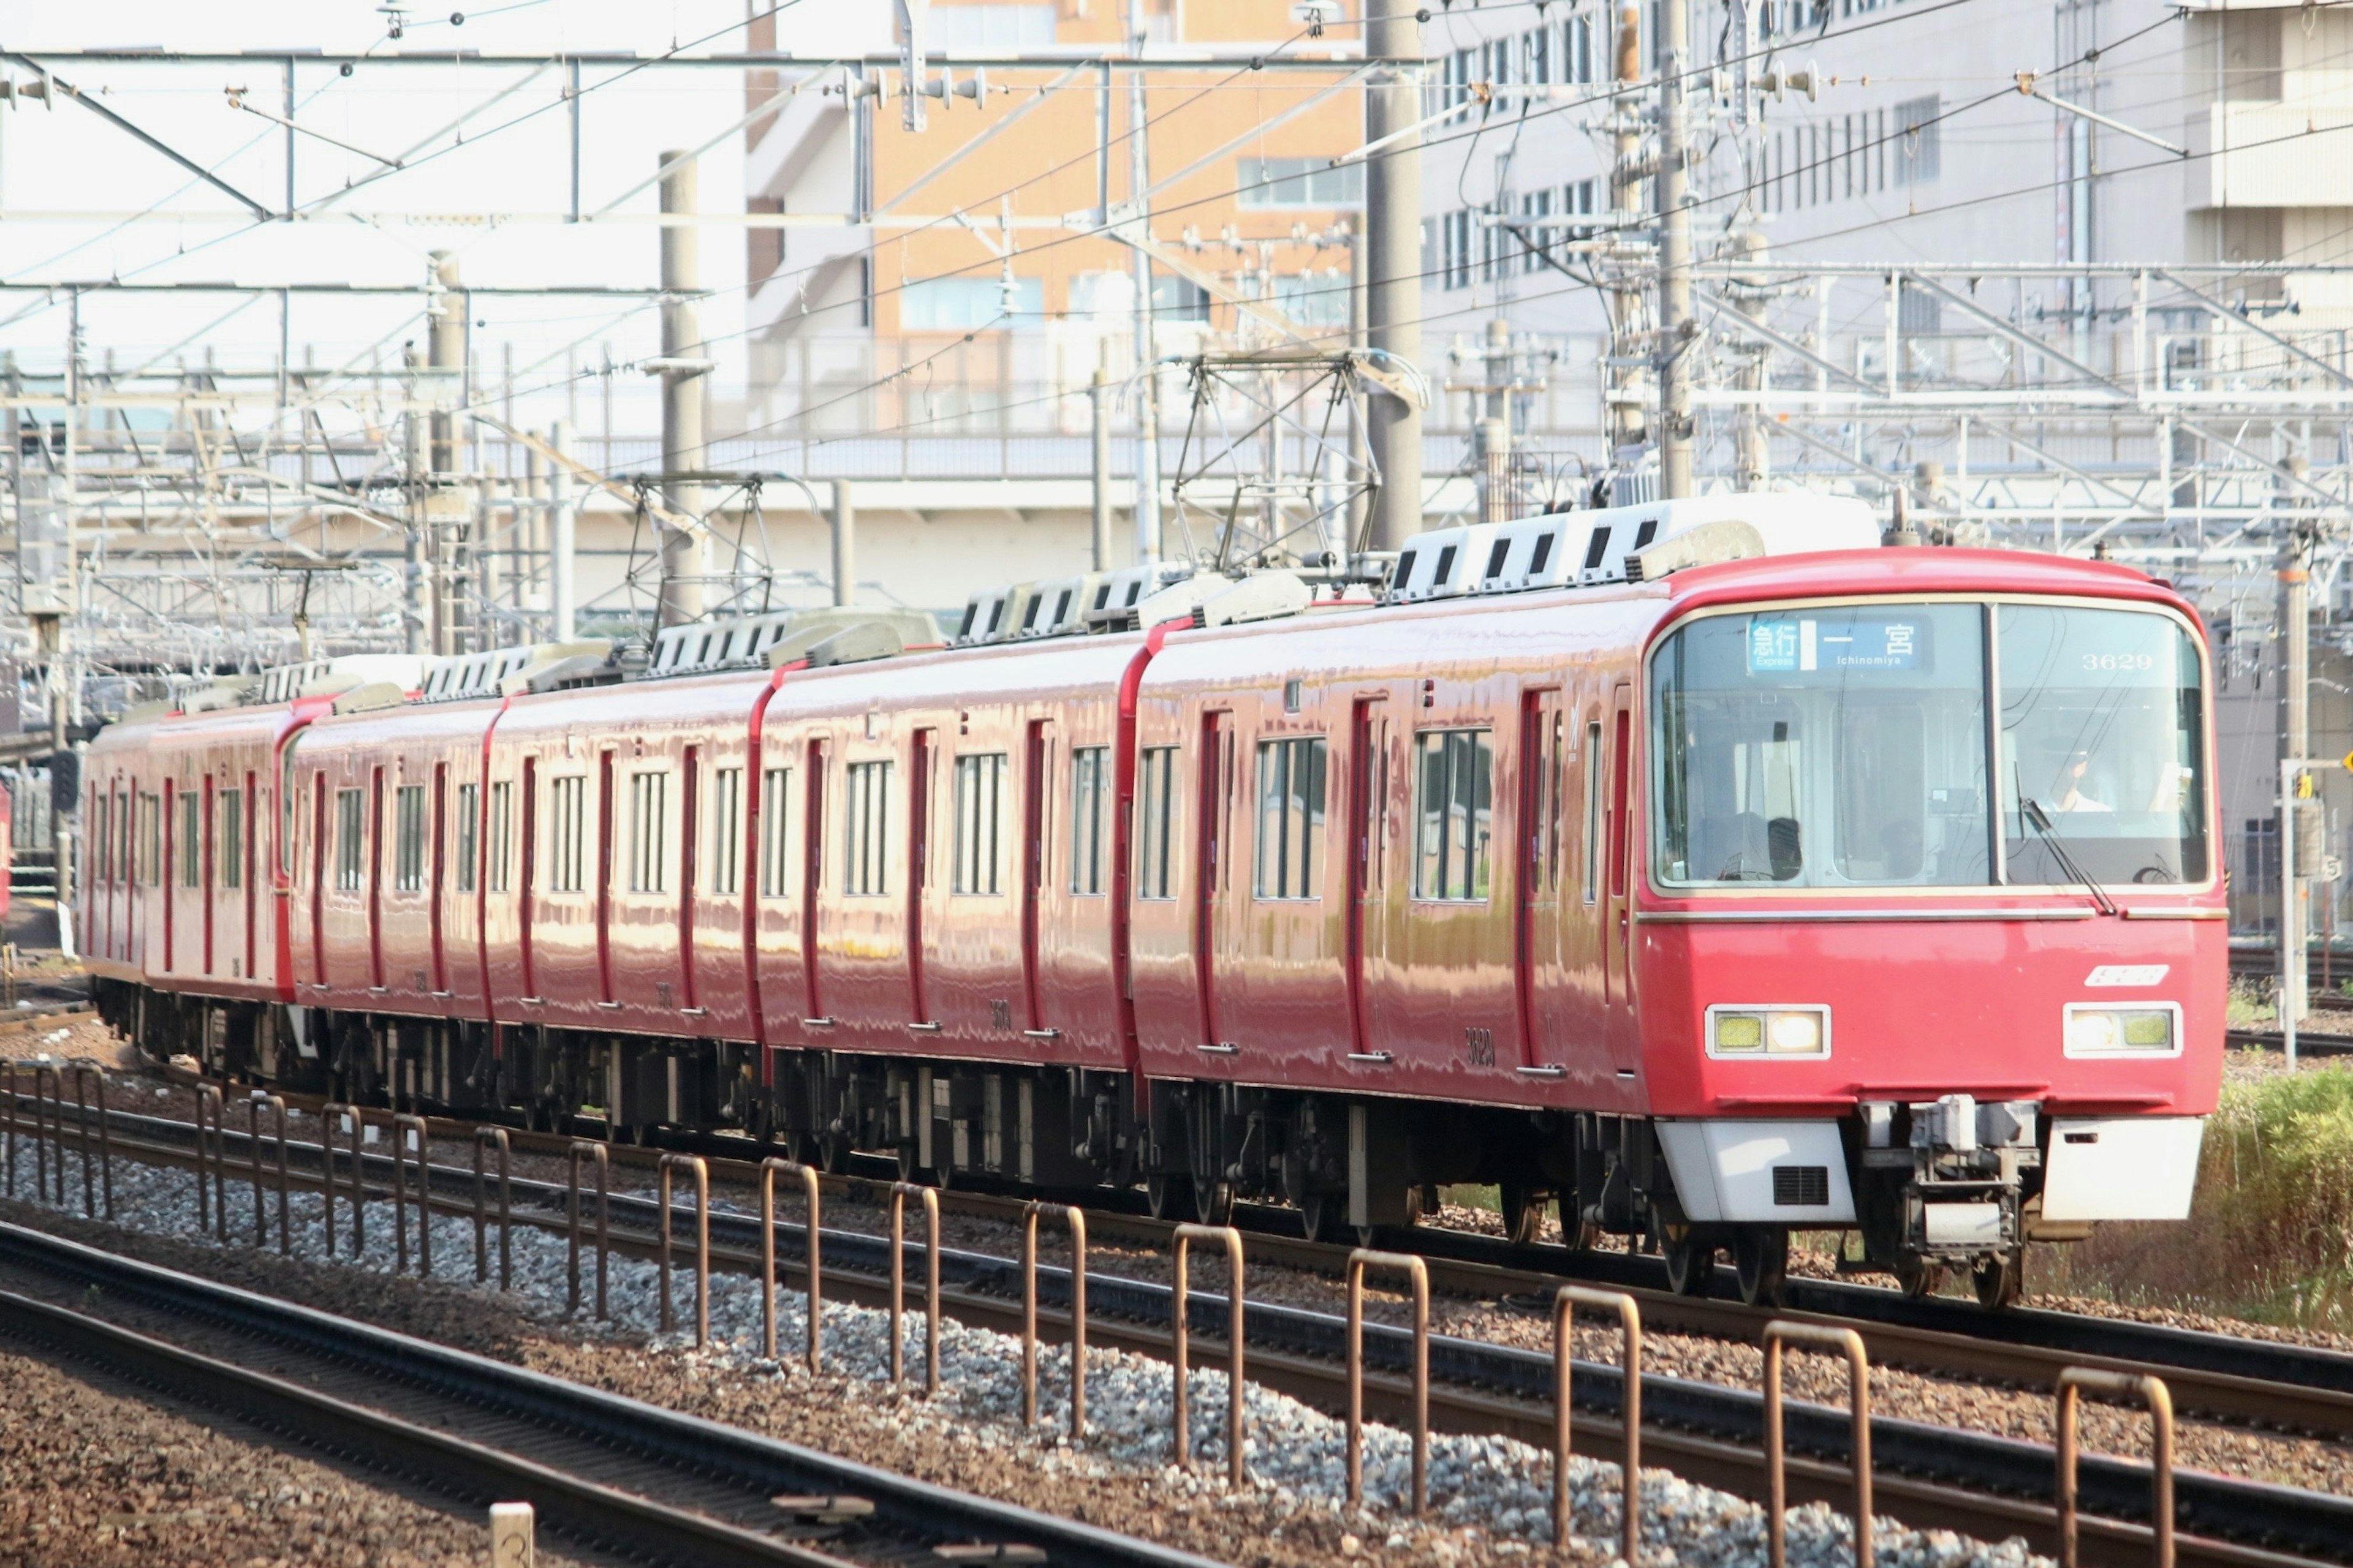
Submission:
[[2353,1067],[2226,1084],[2186,1222],[2040,1251],[2038,1291],[2353,1331]]

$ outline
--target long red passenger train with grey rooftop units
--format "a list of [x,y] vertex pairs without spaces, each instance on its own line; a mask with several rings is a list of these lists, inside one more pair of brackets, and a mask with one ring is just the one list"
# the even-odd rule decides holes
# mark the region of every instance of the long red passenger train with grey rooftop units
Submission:
[[979,646],[273,672],[92,743],[82,945],[148,1051],[348,1098],[1325,1237],[1499,1182],[1685,1288],[1845,1229],[1998,1305],[2188,1208],[2207,651],[2141,574],[1875,541],[1734,496],[1424,536],[1384,604],[1132,571]]

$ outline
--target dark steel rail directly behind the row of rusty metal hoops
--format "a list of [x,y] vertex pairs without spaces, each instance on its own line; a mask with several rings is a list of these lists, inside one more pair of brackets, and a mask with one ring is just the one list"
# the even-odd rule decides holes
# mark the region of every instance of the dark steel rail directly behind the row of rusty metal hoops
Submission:
[[[186,1126],[186,1124],[167,1124]],[[304,1145],[294,1145],[301,1154]],[[169,1154],[167,1150],[160,1150]],[[386,1171],[388,1157],[372,1157]],[[447,1213],[471,1213],[466,1171],[435,1166],[435,1197]],[[518,1180],[518,1220],[560,1229],[567,1190]],[[878,1199],[882,1182],[849,1182]],[[652,1258],[659,1206],[635,1194],[614,1194],[614,1246]],[[758,1218],[713,1213],[713,1265],[753,1272],[760,1260]],[[798,1225],[776,1227],[779,1255],[805,1248]],[[889,1244],[864,1232],[824,1229],[826,1291],[835,1300],[887,1305]],[[906,1251],[906,1248],[904,1248]],[[901,1251],[901,1255],[904,1255]],[[944,1312],[1005,1333],[1021,1328],[1024,1272],[1016,1258],[941,1248]],[[1066,1333],[1068,1269],[1038,1267],[1042,1324]],[[1172,1352],[1172,1291],[1153,1281],[1092,1274],[1089,1338],[1139,1354],[1167,1359]],[[1901,1298],[1899,1298],[1901,1300]],[[1193,1293],[1188,1302],[1193,1356],[1224,1356],[1217,1338],[1228,1302]],[[1346,1321],[1327,1312],[1247,1302],[1245,1340],[1254,1382],[1285,1389],[1311,1403],[1339,1408],[1346,1385]],[[1402,1328],[1365,1326],[1365,1396],[1393,1420],[1412,1413],[1412,1335]],[[1431,1425],[1449,1432],[1499,1432],[1548,1446],[1555,1436],[1553,1359],[1548,1354],[1457,1338],[1431,1338]],[[1577,1448],[1617,1458],[1624,1446],[1619,1408],[1624,1378],[1614,1366],[1577,1363]],[[1762,1396],[1680,1378],[1642,1375],[1645,1453],[1692,1481],[1762,1500]],[[1845,1410],[1809,1403],[1786,1406],[1793,1450],[1788,1490],[1793,1500],[1833,1505],[1852,1495],[1849,1422]],[[2026,1535],[2042,1549],[2057,1540],[2054,1450],[2045,1443],[1955,1432],[1925,1422],[1875,1415],[1871,1422],[1880,1509],[1920,1528],[1951,1528],[1979,1537]],[[2148,1469],[2106,1458],[2082,1462],[2080,1497],[2092,1516],[2082,1521],[2085,1559],[2097,1563],[2144,1563],[2148,1559]],[[2353,1563],[2353,1497],[2306,1493],[2261,1481],[2186,1474],[2179,1483],[2184,1563],[2268,1566],[2294,1561]]]

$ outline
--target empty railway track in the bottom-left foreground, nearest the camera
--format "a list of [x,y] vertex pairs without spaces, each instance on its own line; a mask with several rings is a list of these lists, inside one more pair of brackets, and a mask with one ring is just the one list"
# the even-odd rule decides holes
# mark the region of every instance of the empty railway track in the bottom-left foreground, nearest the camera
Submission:
[[[96,1291],[136,1326],[45,1293]],[[127,1312],[125,1312],[127,1307]],[[0,1225],[0,1338],[642,1563],[1207,1568],[1186,1552],[835,1460]]]

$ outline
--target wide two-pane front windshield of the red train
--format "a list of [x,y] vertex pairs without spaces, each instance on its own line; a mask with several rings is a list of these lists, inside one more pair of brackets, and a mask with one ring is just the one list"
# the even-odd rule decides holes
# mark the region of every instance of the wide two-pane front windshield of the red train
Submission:
[[2200,663],[2169,616],[2033,602],[1706,616],[1659,646],[1652,724],[1659,884],[2207,877]]

